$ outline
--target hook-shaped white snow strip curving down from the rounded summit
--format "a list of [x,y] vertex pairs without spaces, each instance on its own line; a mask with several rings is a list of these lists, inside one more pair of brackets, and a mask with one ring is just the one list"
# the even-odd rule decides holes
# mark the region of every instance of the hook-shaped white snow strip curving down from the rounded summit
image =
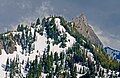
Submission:
[[65,48],[60,48],[59,47],[60,43],[58,45],[53,46],[52,45],[53,40],[50,39],[50,42],[51,42],[50,51],[52,51],[53,53],[58,52],[58,55],[59,55],[60,52],[65,52],[68,49],[68,47],[72,47],[72,45],[75,43],[75,38],[72,37],[68,32],[66,32],[65,28],[60,24],[59,18],[55,18],[54,20],[55,20],[55,24],[57,26],[58,31],[61,32],[61,35],[63,35],[63,33],[66,33],[66,35],[67,35],[67,42],[66,42]]

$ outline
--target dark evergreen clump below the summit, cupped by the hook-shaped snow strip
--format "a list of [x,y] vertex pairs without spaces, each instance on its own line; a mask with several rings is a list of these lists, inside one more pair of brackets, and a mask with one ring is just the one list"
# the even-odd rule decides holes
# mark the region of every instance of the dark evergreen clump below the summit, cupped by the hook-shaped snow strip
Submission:
[[[55,17],[51,17],[51,21],[48,19],[44,19],[43,25],[45,27],[46,33],[47,33],[47,38],[54,39],[53,45],[56,44],[58,45],[60,42],[60,48],[65,48],[66,47],[66,42],[67,42],[67,34],[65,32],[59,31],[57,29],[57,26],[55,25],[54,19]],[[62,35],[61,35],[62,33]]]

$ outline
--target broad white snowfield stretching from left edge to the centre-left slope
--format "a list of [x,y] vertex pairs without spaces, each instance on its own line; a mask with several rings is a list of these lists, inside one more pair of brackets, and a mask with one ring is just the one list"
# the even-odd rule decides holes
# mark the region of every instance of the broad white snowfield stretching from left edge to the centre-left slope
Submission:
[[[15,34],[15,32],[14,32]],[[16,32],[17,34],[17,32]],[[16,43],[16,48],[17,48],[17,51],[14,51],[13,54],[6,54],[5,50],[2,49],[2,55],[0,55],[0,78],[1,77],[5,77],[5,65],[6,65],[6,61],[7,61],[7,58],[13,60],[14,58],[18,57],[20,58],[20,63],[22,63],[22,61],[24,60],[25,63],[23,64],[23,68],[25,67],[25,64],[27,62],[27,59],[29,58],[30,61],[33,61],[35,60],[35,56],[36,55],[43,55],[43,51],[44,49],[46,48],[47,46],[47,38],[43,35],[39,35],[38,33],[36,33],[37,35],[37,40],[33,43],[35,44],[35,50],[33,50],[33,53],[31,53],[30,55],[28,53],[26,54],[22,54],[22,47],[20,45],[18,45]],[[37,53],[38,51],[38,53]],[[23,76],[25,76],[27,74],[27,72],[24,72],[24,69],[21,68],[21,72],[23,74]]]

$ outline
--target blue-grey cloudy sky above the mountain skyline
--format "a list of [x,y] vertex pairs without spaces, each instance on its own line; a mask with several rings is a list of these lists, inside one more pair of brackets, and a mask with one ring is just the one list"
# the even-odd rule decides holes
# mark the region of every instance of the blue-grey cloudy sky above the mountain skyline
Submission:
[[0,0],[0,32],[37,17],[54,14],[72,20],[84,12],[103,44],[120,50],[119,7],[120,0]]

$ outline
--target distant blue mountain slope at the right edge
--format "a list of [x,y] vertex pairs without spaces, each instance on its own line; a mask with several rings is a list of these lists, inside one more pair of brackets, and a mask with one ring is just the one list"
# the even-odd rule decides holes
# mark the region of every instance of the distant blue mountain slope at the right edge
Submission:
[[120,51],[119,50],[115,50],[115,49],[112,49],[110,47],[105,47],[104,49],[110,57],[120,61]]

